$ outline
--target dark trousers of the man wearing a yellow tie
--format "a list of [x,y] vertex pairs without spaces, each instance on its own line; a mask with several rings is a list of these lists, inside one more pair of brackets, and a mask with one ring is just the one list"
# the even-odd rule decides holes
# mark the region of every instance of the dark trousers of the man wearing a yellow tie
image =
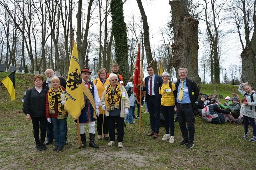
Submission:
[[[192,104],[180,105],[177,103],[177,115],[180,125],[180,131],[182,137],[188,141],[194,141],[195,139],[195,117]],[[186,122],[188,123],[188,130],[186,128]]]

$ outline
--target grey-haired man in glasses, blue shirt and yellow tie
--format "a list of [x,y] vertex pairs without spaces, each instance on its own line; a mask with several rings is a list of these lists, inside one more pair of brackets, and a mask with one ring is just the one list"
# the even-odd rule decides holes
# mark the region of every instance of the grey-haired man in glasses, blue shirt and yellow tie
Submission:
[[[180,131],[182,133],[183,141],[179,145],[185,145],[187,149],[194,147],[195,138],[195,117],[194,113],[198,112],[196,107],[196,100],[198,98],[199,90],[196,82],[187,78],[188,69],[178,69],[180,79],[176,82],[177,96],[175,101],[174,111],[178,115],[178,122]],[[188,130],[186,128],[188,124]]]

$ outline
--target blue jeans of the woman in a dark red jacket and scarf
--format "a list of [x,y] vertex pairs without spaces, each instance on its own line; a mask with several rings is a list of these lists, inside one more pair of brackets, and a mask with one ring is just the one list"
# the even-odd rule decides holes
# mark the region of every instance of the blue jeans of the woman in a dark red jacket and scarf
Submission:
[[64,146],[65,136],[66,136],[66,125],[67,125],[66,118],[65,119],[51,118],[51,122],[54,128],[55,145]]

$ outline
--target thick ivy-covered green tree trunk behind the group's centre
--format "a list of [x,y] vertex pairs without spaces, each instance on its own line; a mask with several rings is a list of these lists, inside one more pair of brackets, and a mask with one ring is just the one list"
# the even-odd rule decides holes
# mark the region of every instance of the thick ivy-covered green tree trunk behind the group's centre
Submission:
[[115,41],[116,63],[119,65],[119,72],[124,77],[126,84],[129,77],[128,64],[128,41],[127,28],[124,22],[123,2],[122,0],[111,0],[110,13],[112,15],[112,31]]

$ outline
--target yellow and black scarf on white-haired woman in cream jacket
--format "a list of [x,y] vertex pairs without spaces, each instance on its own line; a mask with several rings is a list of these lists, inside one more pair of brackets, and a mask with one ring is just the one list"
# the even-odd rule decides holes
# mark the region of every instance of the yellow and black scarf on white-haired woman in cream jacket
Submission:
[[105,94],[105,101],[106,101],[106,106],[107,110],[114,110],[114,108],[119,109],[119,103],[121,99],[121,89],[118,84],[116,84],[116,89],[112,93],[112,86],[111,84],[107,87],[106,89],[106,94]]

